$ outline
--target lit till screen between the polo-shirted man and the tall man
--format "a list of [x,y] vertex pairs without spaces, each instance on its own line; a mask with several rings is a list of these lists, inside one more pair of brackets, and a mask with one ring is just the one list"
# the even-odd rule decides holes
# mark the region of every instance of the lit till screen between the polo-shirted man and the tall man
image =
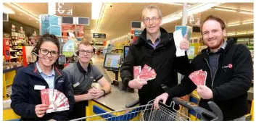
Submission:
[[112,71],[119,71],[122,54],[106,53],[103,67]]

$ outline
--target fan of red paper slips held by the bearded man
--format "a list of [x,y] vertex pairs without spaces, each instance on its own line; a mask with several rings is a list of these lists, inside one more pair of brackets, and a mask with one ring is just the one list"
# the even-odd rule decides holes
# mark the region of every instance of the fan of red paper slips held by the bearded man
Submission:
[[194,71],[189,75],[190,80],[192,80],[195,85],[205,85],[206,77],[207,72],[202,71],[202,69]]

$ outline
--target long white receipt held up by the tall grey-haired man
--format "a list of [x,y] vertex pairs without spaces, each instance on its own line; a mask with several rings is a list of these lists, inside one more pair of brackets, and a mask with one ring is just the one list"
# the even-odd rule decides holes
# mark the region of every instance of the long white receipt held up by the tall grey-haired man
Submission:
[[185,56],[185,50],[181,49],[181,47],[180,47],[180,43],[183,40],[181,30],[176,30],[173,33],[173,38],[174,38],[174,43],[175,43],[175,46],[176,46],[176,56],[177,57],[178,56]]

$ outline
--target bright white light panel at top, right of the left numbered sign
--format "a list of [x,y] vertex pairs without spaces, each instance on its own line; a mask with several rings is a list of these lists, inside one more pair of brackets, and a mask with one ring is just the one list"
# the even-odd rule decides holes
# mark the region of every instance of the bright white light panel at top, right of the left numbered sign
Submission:
[[99,14],[101,12],[101,8],[102,8],[102,2],[93,1],[91,3],[91,19],[92,20],[99,19]]

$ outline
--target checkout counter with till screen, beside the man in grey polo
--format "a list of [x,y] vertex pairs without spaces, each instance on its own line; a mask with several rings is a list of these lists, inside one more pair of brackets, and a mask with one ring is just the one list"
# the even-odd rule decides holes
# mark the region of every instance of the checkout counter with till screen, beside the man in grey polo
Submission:
[[[125,114],[128,114],[127,111],[117,111],[121,109],[125,109],[125,105],[128,103],[133,103],[134,101],[138,101],[139,96],[137,90],[133,93],[120,90],[120,84],[116,85],[119,78],[119,65],[120,65],[120,54],[109,54],[107,53],[104,58],[104,64],[94,64],[95,67],[99,69],[100,72],[104,75],[106,80],[111,83],[111,92],[106,96],[102,96],[100,98],[93,99],[88,101],[88,106],[86,107],[86,116],[92,116],[96,114],[102,114],[110,111],[115,111],[115,114],[111,114],[114,116],[122,115],[125,117]],[[111,75],[110,75],[111,73]],[[101,86],[94,82],[93,86],[95,88],[101,88]],[[124,114],[124,115],[123,115]],[[119,119],[123,119],[120,116]],[[128,116],[129,119],[126,120],[138,120],[139,116]],[[104,116],[94,116],[93,118],[86,120],[99,120],[107,117]]]

